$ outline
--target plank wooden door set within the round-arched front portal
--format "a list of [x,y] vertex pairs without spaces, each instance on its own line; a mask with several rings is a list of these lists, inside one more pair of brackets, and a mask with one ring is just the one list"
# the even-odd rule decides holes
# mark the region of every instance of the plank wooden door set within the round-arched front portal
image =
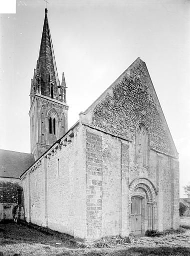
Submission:
[[142,233],[142,199],[139,197],[132,197],[131,232],[133,234]]

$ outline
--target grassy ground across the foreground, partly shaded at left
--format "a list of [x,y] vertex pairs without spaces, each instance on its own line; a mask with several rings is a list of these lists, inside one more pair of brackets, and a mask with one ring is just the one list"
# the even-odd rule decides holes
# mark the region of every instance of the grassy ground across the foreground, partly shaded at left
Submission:
[[[58,244],[56,244],[58,243]],[[110,245],[110,244],[109,244]],[[190,229],[165,236],[131,237],[131,242],[95,248],[81,239],[24,223],[0,223],[0,256],[190,255]]]

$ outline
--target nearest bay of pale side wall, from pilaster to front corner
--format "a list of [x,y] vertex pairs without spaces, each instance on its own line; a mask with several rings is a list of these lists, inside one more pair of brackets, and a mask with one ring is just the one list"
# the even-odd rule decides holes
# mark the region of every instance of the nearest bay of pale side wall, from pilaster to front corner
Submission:
[[48,226],[86,236],[85,153],[83,129],[47,159]]

